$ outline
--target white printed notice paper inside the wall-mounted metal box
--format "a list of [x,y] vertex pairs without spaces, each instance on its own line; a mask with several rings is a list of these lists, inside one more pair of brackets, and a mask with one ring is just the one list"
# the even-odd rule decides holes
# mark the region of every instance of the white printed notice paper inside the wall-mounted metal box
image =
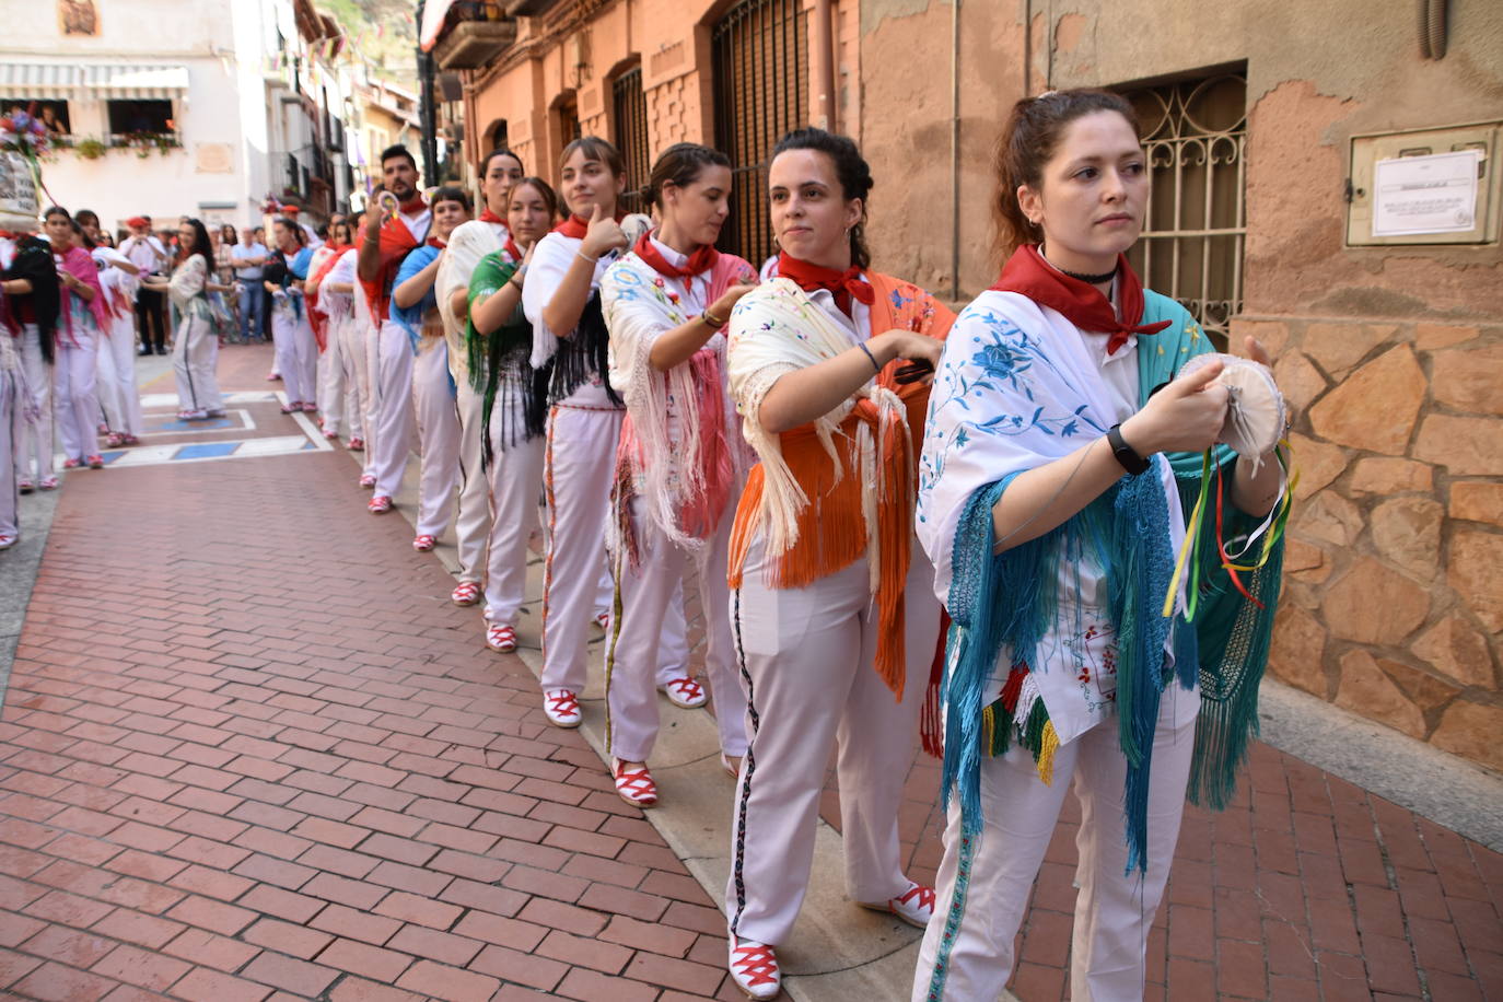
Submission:
[[1378,161],[1372,170],[1372,236],[1474,230],[1480,162],[1480,150]]

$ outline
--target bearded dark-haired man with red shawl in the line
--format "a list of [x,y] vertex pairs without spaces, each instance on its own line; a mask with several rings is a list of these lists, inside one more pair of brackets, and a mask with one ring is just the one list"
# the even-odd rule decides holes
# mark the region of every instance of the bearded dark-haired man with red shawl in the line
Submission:
[[373,515],[391,511],[401,487],[412,448],[412,343],[391,315],[391,291],[403,258],[422,246],[433,225],[433,212],[418,191],[418,162],[404,146],[392,146],[380,156],[382,183],[397,200],[388,212],[380,198],[365,210],[356,273],[370,306],[376,338],[368,358],[373,419],[365,422],[370,439],[367,455],[376,478],[374,494],[367,503]]

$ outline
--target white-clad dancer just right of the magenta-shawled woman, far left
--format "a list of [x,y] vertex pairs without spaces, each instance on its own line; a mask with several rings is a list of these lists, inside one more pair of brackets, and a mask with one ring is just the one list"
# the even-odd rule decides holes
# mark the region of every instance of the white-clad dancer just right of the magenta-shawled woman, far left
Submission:
[[141,395],[135,389],[135,296],[141,269],[131,258],[104,243],[99,216],[80,209],[78,225],[93,243],[95,267],[104,288],[110,327],[99,340],[99,404],[104,409],[111,449],[141,443]]

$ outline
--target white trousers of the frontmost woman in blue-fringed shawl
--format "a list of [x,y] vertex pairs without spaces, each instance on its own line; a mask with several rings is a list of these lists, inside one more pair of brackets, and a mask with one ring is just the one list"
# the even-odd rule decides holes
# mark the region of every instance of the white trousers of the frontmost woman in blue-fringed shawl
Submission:
[[[1070,945],[1070,996],[1081,1002],[1142,999],[1148,928],[1174,862],[1195,751],[1195,721],[1174,726],[1174,699],[1198,696],[1165,693],[1159,709],[1148,780],[1147,874],[1124,876],[1127,760],[1115,717],[1060,747],[1052,786],[1043,784],[1024,748],[1015,745],[998,759],[981,757],[981,834],[969,846],[962,843],[960,804],[951,798],[935,919],[918,951],[914,1002],[969,1002],[1001,993],[1013,970],[1013,939],[1072,777],[1081,801],[1075,840],[1075,883],[1081,891]],[[957,879],[962,867],[965,882]]]

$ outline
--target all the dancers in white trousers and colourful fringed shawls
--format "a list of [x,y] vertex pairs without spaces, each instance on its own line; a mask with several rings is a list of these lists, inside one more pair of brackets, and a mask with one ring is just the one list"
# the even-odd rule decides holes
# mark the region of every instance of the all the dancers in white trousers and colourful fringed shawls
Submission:
[[[1202,464],[1228,397],[1219,362],[1175,379],[1211,346],[1124,257],[1148,185],[1130,108],[1102,92],[1019,102],[996,167],[1006,264],[959,317],[873,267],[873,177],[819,129],[771,156],[779,254],[759,267],[715,249],[732,171],[703,146],[658,156],[651,215],[622,213],[622,158],[594,137],[565,147],[559,191],[490,153],[478,215],[458,188],[422,191],[400,146],[380,170],[382,195],[320,246],[296,219],[272,224],[260,266],[284,410],[322,415],[362,452],[373,514],[392,511],[416,455],[412,545],[454,530],[451,599],[482,607],[493,650],[517,646],[541,496],[543,711],[580,724],[586,638],[604,628],[610,772],[639,807],[660,796],[658,690],[706,702],[685,667],[682,592],[697,580],[735,783],[736,985],[780,990],[776,949],[809,885],[834,751],[851,900],[926,930],[915,1000],[998,997],[1072,780],[1072,991],[1141,997],[1186,790],[1223,799],[1250,727],[1196,732],[1198,687],[1255,691],[1278,596],[1276,559],[1234,590],[1205,533],[1184,544],[1186,499],[1214,470],[1228,490],[1202,517],[1258,532],[1287,484],[1270,457]],[[122,321],[101,275],[131,275],[95,266],[89,225],[60,209],[45,222],[69,464],[98,458],[74,358],[105,358],[92,330]],[[188,251],[158,282],[179,315],[188,418],[222,409],[206,294],[230,287],[207,243],[185,222]],[[20,333],[6,373],[30,379],[47,306],[27,275],[11,266],[0,302]],[[1171,574],[1186,551],[1195,593]],[[1216,632],[1226,622],[1237,644]],[[936,888],[909,880],[899,852],[915,735],[942,754],[950,801]]]

